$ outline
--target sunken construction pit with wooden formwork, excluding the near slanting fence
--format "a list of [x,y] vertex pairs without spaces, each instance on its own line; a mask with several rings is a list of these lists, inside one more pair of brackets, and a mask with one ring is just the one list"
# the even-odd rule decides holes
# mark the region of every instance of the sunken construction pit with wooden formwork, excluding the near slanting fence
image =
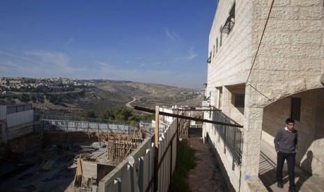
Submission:
[[0,125],[0,191],[97,191],[153,135],[150,123],[35,119],[29,104],[1,106]]

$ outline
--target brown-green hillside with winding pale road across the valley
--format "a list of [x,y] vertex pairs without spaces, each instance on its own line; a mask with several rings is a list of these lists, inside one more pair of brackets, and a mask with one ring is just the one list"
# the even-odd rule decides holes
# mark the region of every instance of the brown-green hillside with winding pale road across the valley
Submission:
[[[49,99],[45,102],[33,102],[39,113],[72,115],[80,111],[93,110],[100,114],[106,109],[120,106],[143,106],[154,109],[160,106],[201,106],[202,90],[178,88],[153,83],[133,81],[83,80],[92,83],[92,88],[84,88],[73,93],[52,93],[60,104],[53,104]],[[49,93],[49,97],[51,94]]]

